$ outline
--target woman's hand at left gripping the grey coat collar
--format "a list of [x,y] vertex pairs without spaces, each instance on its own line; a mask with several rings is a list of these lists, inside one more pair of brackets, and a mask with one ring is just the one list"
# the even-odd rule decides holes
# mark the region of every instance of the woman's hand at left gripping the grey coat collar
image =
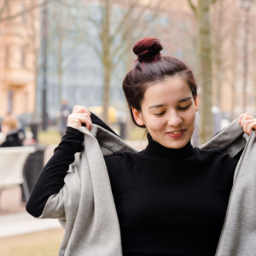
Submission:
[[67,126],[79,129],[85,123],[86,128],[91,131],[90,111],[83,106],[74,106],[73,113],[67,117]]

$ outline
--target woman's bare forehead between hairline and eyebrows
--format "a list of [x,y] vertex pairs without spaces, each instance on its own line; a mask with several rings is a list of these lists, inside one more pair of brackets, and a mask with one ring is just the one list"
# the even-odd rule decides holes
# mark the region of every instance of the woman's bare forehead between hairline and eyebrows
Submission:
[[150,86],[143,103],[176,103],[189,96],[192,96],[189,84],[180,77],[174,77]]

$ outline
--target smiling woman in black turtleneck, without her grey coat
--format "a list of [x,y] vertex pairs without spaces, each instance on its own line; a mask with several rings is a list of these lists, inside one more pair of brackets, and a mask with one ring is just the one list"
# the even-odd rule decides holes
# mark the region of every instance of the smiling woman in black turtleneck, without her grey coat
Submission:
[[[104,157],[123,255],[214,255],[237,160],[192,147],[197,85],[190,68],[160,55],[161,49],[156,38],[137,42],[136,66],[123,83],[131,118],[148,130],[147,148]],[[40,216],[49,196],[61,190],[73,155],[83,150],[78,129],[85,123],[90,130],[94,119],[80,106],[69,115],[67,133],[27,204],[33,216]],[[248,113],[239,122],[247,134],[256,125]]]

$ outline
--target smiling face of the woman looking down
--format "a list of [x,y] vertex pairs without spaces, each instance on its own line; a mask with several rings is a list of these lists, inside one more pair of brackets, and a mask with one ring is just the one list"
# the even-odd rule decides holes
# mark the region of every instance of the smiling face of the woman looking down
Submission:
[[138,125],[146,125],[154,141],[166,148],[183,148],[195,129],[197,101],[189,84],[173,77],[146,90],[142,111],[132,108]]

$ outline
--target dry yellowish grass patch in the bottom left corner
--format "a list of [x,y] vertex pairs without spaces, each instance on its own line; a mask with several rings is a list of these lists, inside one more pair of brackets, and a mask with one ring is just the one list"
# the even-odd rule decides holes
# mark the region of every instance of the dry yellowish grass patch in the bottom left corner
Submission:
[[56,256],[64,230],[47,230],[0,239],[0,256]]

